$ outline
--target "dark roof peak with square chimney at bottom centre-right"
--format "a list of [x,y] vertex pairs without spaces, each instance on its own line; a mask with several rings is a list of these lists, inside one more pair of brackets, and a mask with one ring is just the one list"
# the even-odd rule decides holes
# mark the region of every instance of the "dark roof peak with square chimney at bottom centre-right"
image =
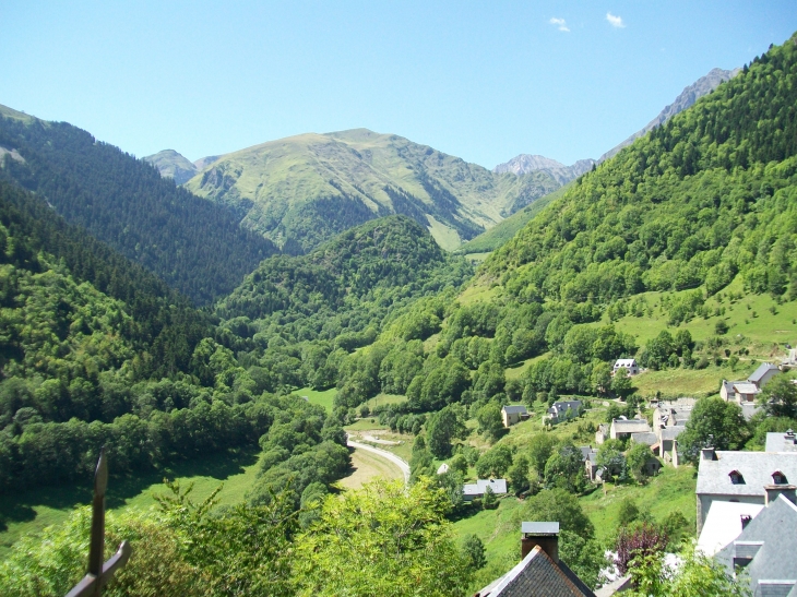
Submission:
[[595,597],[559,559],[559,523],[522,523],[521,537],[521,562],[474,597]]

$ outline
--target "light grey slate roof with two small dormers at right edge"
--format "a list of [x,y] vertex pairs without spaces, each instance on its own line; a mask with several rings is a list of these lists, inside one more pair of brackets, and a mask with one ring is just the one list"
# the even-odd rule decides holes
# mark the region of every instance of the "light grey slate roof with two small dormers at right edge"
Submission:
[[[780,470],[789,483],[797,483],[797,452],[716,452],[716,461],[700,459],[697,494],[765,495],[772,474]],[[741,474],[744,482],[730,481],[730,473]]]

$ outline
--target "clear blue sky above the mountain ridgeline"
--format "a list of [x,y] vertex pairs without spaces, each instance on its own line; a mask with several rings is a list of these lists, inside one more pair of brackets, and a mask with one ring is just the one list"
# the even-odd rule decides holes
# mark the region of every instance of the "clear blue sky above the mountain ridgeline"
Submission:
[[138,156],[366,127],[571,164],[796,29],[794,0],[7,0],[0,104]]

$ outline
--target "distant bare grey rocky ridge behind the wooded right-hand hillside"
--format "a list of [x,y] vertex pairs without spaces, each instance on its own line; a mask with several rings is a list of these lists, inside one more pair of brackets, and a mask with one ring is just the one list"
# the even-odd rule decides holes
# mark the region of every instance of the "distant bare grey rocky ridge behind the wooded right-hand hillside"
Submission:
[[542,155],[521,154],[513,157],[509,162],[499,164],[492,169],[492,171],[512,172],[515,175],[546,172],[550,175],[554,179],[556,179],[557,182],[559,182],[560,184],[567,184],[571,180],[574,180],[584,172],[588,171],[594,164],[600,164],[602,162],[605,162],[609,157],[617,154],[617,152],[619,152],[623,147],[627,147],[628,145],[633,143],[640,136],[644,136],[645,134],[647,134],[655,127],[663,124],[678,112],[686,110],[687,108],[692,106],[699,98],[707,93],[713,92],[719,85],[719,83],[723,83],[736,76],[740,70],[741,69],[734,69],[731,71],[725,71],[723,69],[712,69],[709,74],[706,74],[705,76],[701,76],[694,83],[685,87],[680,95],[676,97],[675,102],[673,102],[673,104],[668,105],[661,112],[658,112],[658,116],[651,120],[644,128],[633,133],[619,145],[616,145],[615,147],[606,152],[597,160],[591,158],[580,159],[572,166],[564,166],[563,164],[560,164],[555,159],[550,159]]

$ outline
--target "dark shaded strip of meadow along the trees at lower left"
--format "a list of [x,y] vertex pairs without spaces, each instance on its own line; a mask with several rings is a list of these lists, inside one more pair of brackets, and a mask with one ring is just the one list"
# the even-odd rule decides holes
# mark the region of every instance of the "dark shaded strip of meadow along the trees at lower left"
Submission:
[[[202,459],[175,463],[159,470],[147,470],[129,475],[111,475],[108,480],[106,508],[124,505],[127,500],[139,495],[147,487],[167,479],[185,477],[211,477],[219,483],[243,473],[243,467],[258,462],[258,449],[217,453]],[[112,470],[112,463],[108,463]],[[92,503],[93,478],[82,482],[45,486],[21,491],[12,495],[0,495],[0,532],[8,529],[8,523],[33,521],[37,506],[68,510]]]

